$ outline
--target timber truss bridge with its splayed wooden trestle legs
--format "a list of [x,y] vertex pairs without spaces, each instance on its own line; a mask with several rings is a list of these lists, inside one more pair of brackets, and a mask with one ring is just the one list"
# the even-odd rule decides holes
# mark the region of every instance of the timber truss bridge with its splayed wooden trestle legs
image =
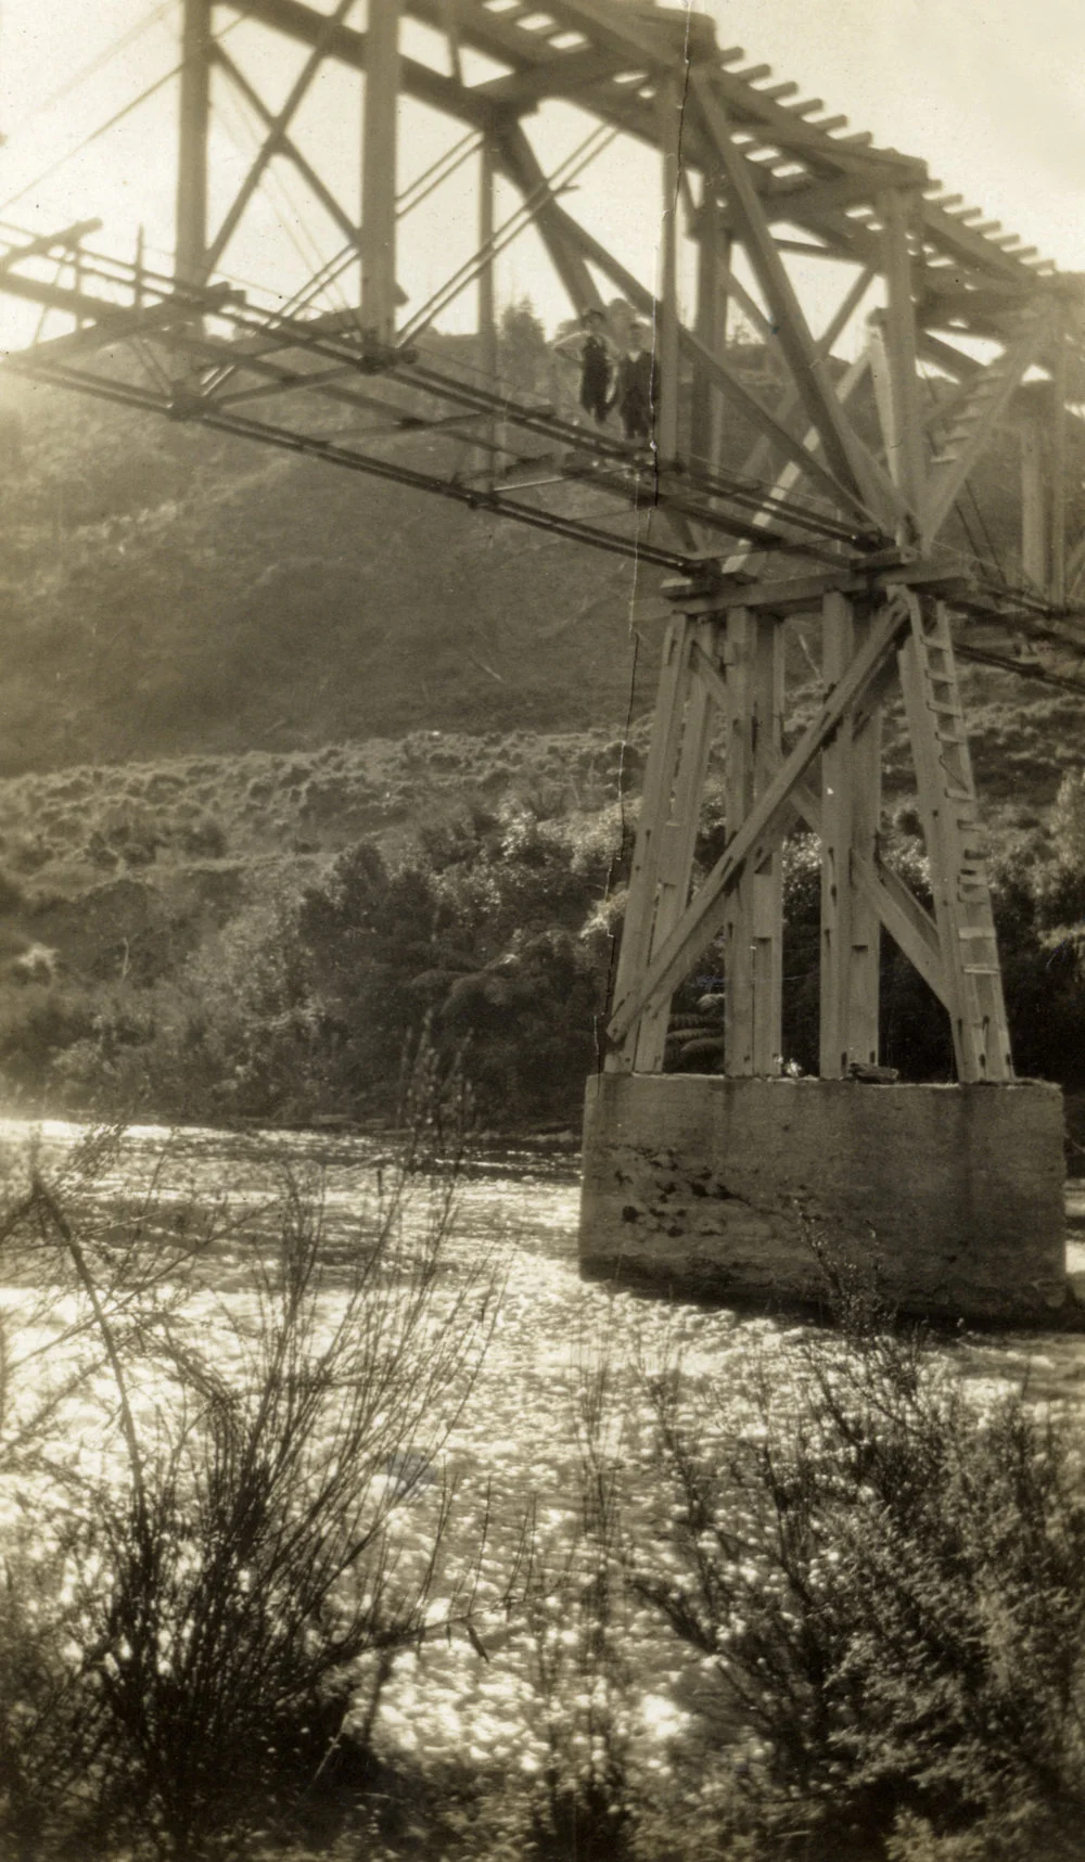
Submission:
[[[983,220],[921,160],[851,134],[720,47],[707,17],[638,0],[368,0],[361,24],[355,11],[363,0],[182,0],[175,263],[166,274],[140,251],[95,250],[97,222],[0,229],[0,289],[41,305],[47,331],[61,324],[6,367],[670,572],[610,1069],[663,1069],[672,994],[717,938],[726,1073],[780,1069],[782,840],[798,817],[823,847],[823,1076],[877,1063],[886,927],[949,1011],[958,1078],[1012,1078],[957,663],[1085,691],[1085,536],[1072,534],[1083,279]],[[294,58],[277,106],[246,69],[242,47],[259,37]],[[328,63],[363,84],[359,203],[296,134]],[[212,225],[212,121],[227,95],[259,134]],[[404,181],[411,106],[437,112],[449,142]],[[555,106],[583,140],[547,164],[538,127]],[[659,173],[653,279],[566,199],[616,140]],[[301,177],[341,242],[288,300],[225,272],[272,169]],[[478,250],[404,309],[400,225],[452,177]],[[508,184],[517,207],[499,220]],[[614,317],[616,294],[651,324],[651,445],[501,380],[495,259],[525,227],[571,315]],[[839,292],[819,330],[815,274]],[[478,305],[469,361],[434,335],[465,290]],[[772,359],[759,384],[726,341],[733,305]],[[845,339],[851,363],[836,354]],[[1007,430],[1020,527],[1009,564],[977,544],[973,484],[996,441],[1005,458]],[[748,441],[739,471],[724,464],[735,432]],[[821,616],[821,702],[800,728],[785,693],[793,614]],[[901,693],[932,909],[878,847],[882,709]],[[713,749],[728,843],[694,888]]]

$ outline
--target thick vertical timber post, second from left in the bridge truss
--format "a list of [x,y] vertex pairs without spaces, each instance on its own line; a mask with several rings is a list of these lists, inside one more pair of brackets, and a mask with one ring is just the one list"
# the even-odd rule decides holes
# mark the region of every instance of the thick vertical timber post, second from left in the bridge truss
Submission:
[[378,343],[396,328],[396,115],[400,0],[368,0],[361,158],[361,320]]

